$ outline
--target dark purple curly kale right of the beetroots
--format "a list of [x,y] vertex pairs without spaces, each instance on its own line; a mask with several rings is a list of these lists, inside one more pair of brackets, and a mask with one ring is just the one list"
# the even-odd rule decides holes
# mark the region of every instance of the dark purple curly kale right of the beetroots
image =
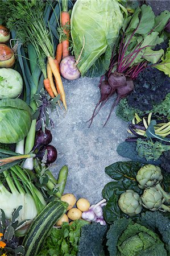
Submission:
[[144,112],[152,110],[170,92],[170,78],[151,67],[139,74],[134,85],[134,91],[127,96],[128,105]]

